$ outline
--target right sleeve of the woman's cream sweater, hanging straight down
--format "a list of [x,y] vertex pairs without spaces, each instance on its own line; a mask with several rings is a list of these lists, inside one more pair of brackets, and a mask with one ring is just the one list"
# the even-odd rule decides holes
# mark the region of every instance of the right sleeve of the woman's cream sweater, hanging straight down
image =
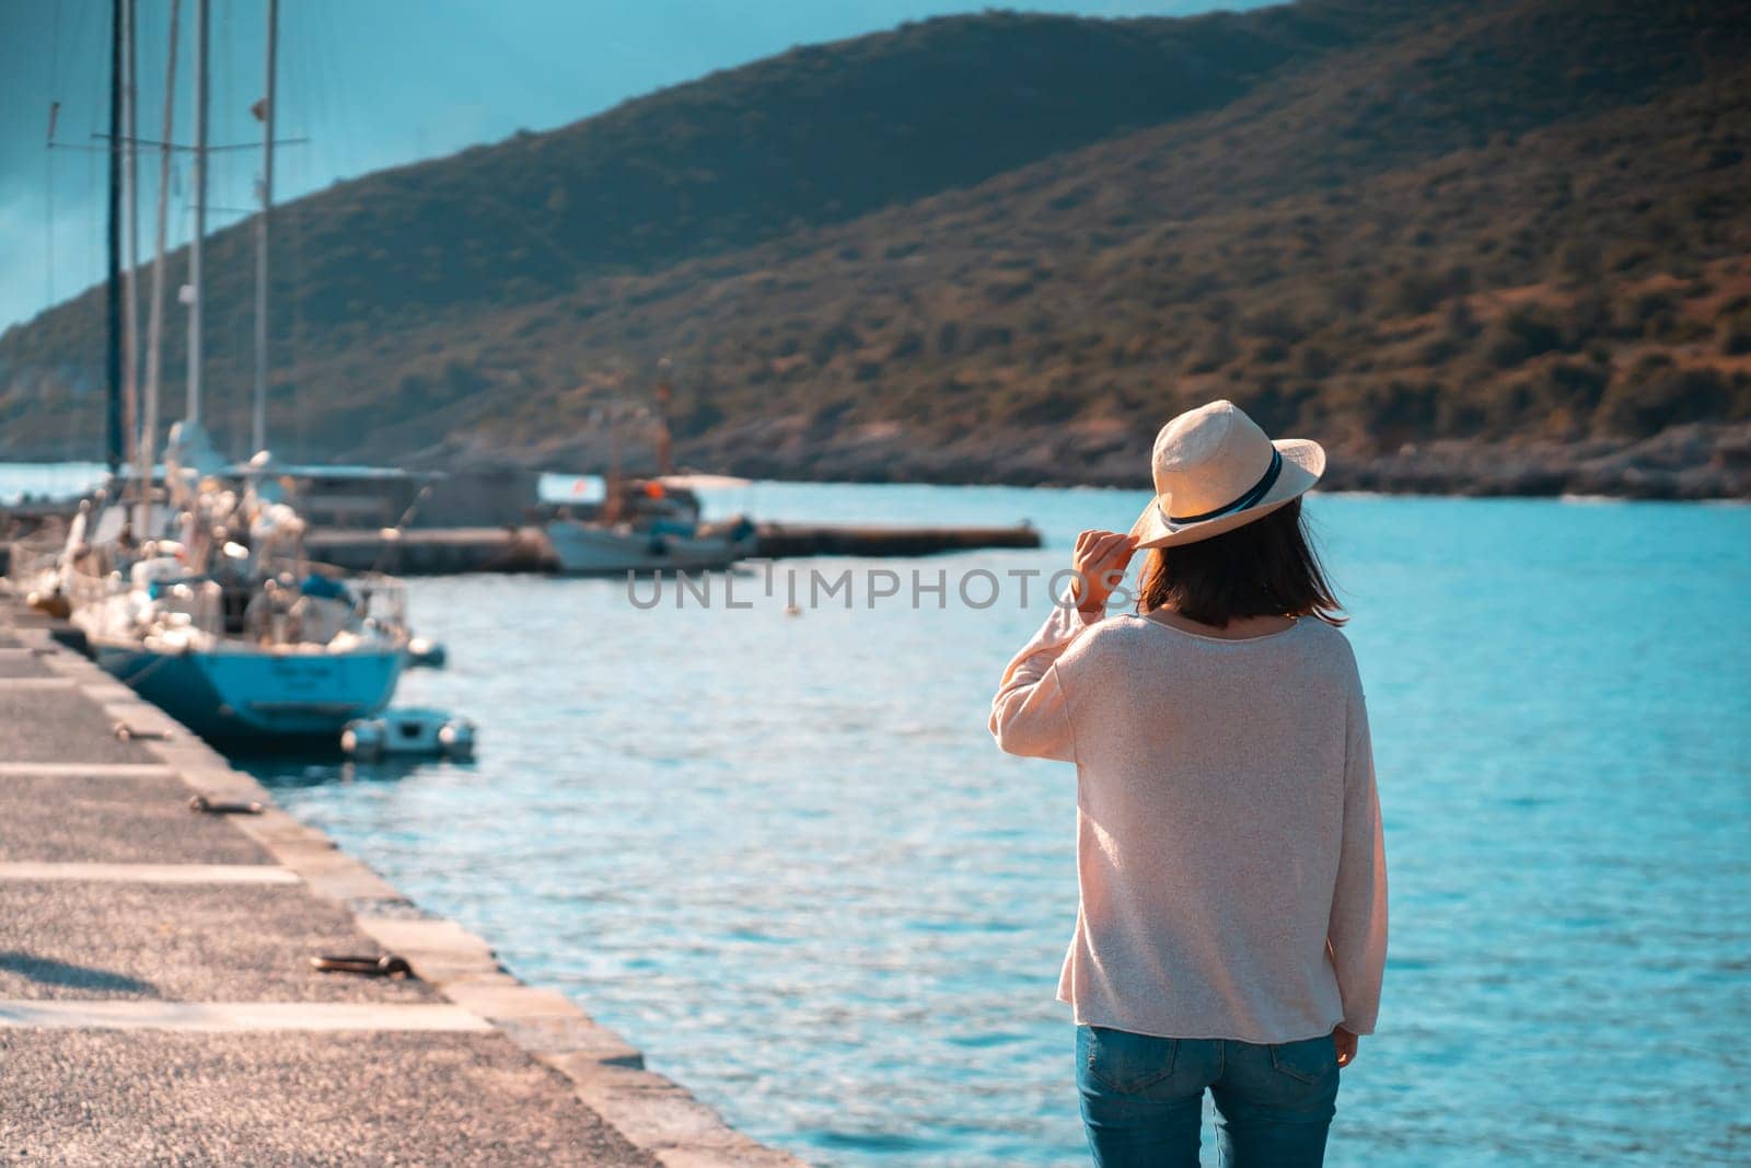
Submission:
[[1380,981],[1387,965],[1387,851],[1380,828],[1368,704],[1361,690],[1350,699],[1343,853],[1326,935],[1343,998],[1343,1028],[1369,1035],[1380,1012]]

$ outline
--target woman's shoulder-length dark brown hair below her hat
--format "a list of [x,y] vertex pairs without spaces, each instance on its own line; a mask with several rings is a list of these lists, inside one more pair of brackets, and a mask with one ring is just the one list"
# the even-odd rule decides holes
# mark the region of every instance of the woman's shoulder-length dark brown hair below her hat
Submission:
[[1299,496],[1220,536],[1156,548],[1136,587],[1136,611],[1157,608],[1226,629],[1240,616],[1317,616],[1341,625],[1343,608],[1301,524]]

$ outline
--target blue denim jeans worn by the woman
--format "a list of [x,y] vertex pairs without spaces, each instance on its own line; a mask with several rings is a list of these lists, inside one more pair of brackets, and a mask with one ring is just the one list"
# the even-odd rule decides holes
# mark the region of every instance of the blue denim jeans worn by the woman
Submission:
[[1336,1114],[1331,1035],[1259,1045],[1077,1026],[1082,1126],[1098,1168],[1196,1168],[1203,1093],[1224,1168],[1317,1168]]

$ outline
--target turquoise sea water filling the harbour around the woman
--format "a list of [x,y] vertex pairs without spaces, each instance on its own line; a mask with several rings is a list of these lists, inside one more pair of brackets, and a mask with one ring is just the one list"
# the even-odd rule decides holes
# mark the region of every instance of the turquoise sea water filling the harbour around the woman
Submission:
[[[1086,1163],[1052,1002],[1073,774],[1003,756],[996,676],[1086,525],[1142,494],[756,483],[762,518],[1007,524],[1042,552],[798,560],[751,608],[420,580],[403,704],[480,762],[257,763],[278,797],[737,1126],[821,1164]],[[1751,508],[1313,496],[1387,820],[1380,1033],[1334,1164],[1751,1154]],[[807,571],[853,569],[854,608]],[[786,571],[800,615],[784,613]],[[868,569],[902,592],[867,608]],[[935,583],[911,606],[911,573]],[[1000,585],[956,595],[967,571]],[[989,588],[981,583],[974,599]],[[1171,679],[1163,679],[1171,685]],[[1213,1150],[1206,1145],[1206,1163]]]

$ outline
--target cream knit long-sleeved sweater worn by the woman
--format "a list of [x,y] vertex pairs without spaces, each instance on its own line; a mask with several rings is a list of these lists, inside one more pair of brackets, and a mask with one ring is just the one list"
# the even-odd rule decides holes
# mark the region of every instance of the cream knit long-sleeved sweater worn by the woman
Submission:
[[1387,862],[1350,641],[1217,639],[1054,608],[991,734],[1077,765],[1077,1023],[1292,1042],[1375,1030]]

